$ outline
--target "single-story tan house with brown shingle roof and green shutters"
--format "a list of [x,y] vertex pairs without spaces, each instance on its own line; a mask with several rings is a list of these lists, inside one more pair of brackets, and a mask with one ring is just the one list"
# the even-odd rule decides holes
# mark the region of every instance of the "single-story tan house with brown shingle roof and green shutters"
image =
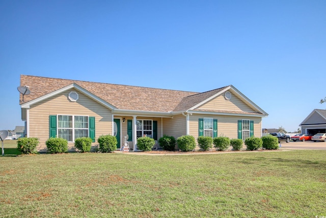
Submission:
[[27,136],[39,138],[39,151],[50,137],[67,139],[70,150],[77,137],[91,137],[95,145],[106,134],[117,137],[118,148],[128,136],[131,149],[143,135],[244,140],[261,137],[268,115],[232,85],[198,93],[25,75],[20,85],[31,90],[20,105]]

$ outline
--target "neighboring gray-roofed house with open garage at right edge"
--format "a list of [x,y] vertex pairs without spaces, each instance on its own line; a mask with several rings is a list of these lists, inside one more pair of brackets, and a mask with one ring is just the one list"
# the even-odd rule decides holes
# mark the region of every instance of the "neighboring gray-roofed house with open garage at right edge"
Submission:
[[314,109],[299,126],[302,134],[326,133],[326,110]]

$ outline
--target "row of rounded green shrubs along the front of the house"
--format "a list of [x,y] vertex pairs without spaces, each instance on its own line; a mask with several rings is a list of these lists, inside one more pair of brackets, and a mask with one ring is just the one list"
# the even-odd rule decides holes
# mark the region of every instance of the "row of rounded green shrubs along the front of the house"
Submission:
[[[102,153],[113,152],[117,150],[117,138],[112,135],[101,135],[98,138],[99,148]],[[175,139],[173,136],[164,135],[159,138],[158,143],[160,147],[166,151],[173,151],[175,144],[178,143],[178,147],[181,151],[188,152],[193,151],[196,148],[195,137],[191,135],[183,135]],[[209,137],[199,136],[197,138],[198,146],[208,151],[212,148],[213,144],[219,151],[225,151],[230,146],[234,151],[239,151],[242,148],[243,141],[241,139],[230,139],[228,137]],[[66,153],[68,152],[68,141],[63,138],[49,138],[46,142],[47,152],[51,154]],[[39,141],[37,138],[19,138],[17,141],[17,149],[22,154],[36,154],[36,147]],[[155,140],[149,137],[140,137],[137,139],[138,148],[143,151],[151,151],[155,144]],[[247,146],[247,150],[253,151],[259,148],[264,149],[278,149],[278,139],[272,135],[266,135],[261,138],[249,137],[244,140],[244,144]],[[89,152],[92,146],[92,139],[89,137],[82,137],[75,139],[75,148],[81,152]]]

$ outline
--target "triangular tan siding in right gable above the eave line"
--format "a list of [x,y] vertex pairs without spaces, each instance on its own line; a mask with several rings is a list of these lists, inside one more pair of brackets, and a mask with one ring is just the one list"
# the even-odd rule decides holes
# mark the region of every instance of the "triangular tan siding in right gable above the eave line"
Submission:
[[226,100],[224,95],[219,95],[211,101],[205,103],[197,109],[203,110],[224,110],[224,111],[243,111],[243,112],[257,112],[246,103],[241,101],[237,96],[232,94],[230,100]]

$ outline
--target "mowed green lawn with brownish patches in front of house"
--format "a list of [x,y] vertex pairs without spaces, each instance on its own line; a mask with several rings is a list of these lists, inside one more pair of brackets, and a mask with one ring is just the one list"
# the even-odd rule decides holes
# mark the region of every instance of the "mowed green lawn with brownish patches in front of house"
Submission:
[[1,217],[326,216],[326,151],[0,157]]

